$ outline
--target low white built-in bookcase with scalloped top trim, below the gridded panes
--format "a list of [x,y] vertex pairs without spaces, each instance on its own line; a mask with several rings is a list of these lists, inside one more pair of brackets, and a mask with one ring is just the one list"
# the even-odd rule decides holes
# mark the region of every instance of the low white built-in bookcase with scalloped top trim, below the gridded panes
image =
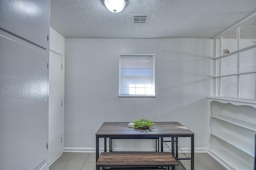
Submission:
[[230,170],[253,170],[256,102],[208,97],[209,153]]

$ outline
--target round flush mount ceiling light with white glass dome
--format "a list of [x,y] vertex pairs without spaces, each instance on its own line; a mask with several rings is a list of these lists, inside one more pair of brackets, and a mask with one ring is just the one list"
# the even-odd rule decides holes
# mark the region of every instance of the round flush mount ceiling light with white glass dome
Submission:
[[102,0],[102,3],[114,13],[122,11],[127,6],[127,0]]

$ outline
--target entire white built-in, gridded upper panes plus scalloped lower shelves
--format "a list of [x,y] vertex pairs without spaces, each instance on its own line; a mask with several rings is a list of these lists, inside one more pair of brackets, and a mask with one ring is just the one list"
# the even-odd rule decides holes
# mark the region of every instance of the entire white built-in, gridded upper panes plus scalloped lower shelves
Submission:
[[214,37],[209,154],[229,170],[255,170],[255,24],[256,12]]

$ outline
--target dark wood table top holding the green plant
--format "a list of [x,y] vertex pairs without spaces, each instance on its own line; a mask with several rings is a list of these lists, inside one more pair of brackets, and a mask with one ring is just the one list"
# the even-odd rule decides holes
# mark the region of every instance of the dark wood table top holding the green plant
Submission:
[[97,135],[192,135],[190,131],[178,122],[154,122],[155,126],[149,129],[134,129],[128,127],[130,122],[104,122]]

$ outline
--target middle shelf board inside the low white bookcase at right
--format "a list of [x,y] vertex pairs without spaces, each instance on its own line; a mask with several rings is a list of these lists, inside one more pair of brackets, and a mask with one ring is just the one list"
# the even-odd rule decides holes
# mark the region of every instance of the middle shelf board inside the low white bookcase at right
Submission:
[[221,140],[227,142],[228,144],[231,144],[232,146],[238,148],[239,150],[242,150],[243,152],[249,154],[250,156],[254,156],[253,145],[248,144],[248,143],[244,142],[243,140],[235,138],[234,136],[231,136],[224,132],[211,132],[211,134],[216,136],[217,138],[220,138]]

